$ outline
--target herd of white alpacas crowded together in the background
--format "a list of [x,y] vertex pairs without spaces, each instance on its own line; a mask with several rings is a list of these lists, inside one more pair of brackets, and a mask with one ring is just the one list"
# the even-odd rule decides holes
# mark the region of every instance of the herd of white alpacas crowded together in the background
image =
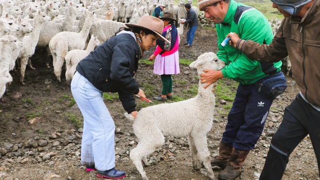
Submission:
[[[43,63],[48,68],[53,57],[54,74],[61,81],[67,52],[84,50],[92,35],[102,44],[126,27],[125,23],[137,23],[141,16],[152,14],[158,3],[166,4],[163,11],[174,13],[176,19],[186,18],[186,2],[192,4],[191,0],[180,0],[179,5],[174,5],[174,0],[0,0],[0,38],[11,35],[22,42],[10,55],[16,57],[11,64],[20,71],[21,84],[25,84],[26,65],[35,69],[30,58],[36,48],[46,52]],[[197,7],[192,8],[198,12]],[[92,14],[95,18],[85,23]],[[0,56],[9,59],[4,53]]]

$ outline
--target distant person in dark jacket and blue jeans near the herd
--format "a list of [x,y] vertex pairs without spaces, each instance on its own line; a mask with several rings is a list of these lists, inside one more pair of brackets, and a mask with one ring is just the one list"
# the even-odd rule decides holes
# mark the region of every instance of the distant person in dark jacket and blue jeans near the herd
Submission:
[[186,45],[186,47],[191,47],[193,38],[195,35],[195,31],[199,25],[198,17],[196,16],[196,13],[194,12],[194,10],[191,8],[190,4],[186,3],[185,8],[187,10],[187,20],[182,21],[181,24],[185,24],[185,23],[189,24],[189,29],[187,32],[187,42],[184,45]]

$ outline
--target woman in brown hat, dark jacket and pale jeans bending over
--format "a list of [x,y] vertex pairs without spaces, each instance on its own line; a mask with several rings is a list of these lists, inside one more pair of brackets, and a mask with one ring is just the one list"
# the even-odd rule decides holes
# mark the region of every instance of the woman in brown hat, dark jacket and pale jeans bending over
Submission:
[[[71,81],[71,92],[83,116],[81,164],[97,177],[121,179],[126,172],[115,169],[115,123],[103,102],[104,92],[118,92],[124,109],[137,116],[133,95],[146,98],[133,75],[145,50],[156,45],[163,21],[142,16],[137,24],[105,41],[81,60]],[[167,41],[167,40],[166,40]]]

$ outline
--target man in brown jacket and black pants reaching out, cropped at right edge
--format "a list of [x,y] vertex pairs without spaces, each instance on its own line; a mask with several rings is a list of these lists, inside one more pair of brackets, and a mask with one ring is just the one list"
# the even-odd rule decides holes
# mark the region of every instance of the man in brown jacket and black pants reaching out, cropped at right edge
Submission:
[[284,18],[270,45],[239,39],[238,33],[228,35],[236,49],[260,62],[276,62],[289,55],[301,90],[284,110],[259,180],[281,180],[290,154],[308,134],[320,172],[320,0],[271,1]]

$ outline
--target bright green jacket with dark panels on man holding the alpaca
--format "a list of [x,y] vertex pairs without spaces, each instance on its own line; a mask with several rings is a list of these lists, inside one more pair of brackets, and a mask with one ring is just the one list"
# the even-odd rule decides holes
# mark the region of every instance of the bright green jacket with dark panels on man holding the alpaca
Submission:
[[226,62],[222,69],[224,77],[234,79],[241,84],[252,84],[257,80],[281,70],[282,62],[258,62],[249,59],[240,50],[227,44],[220,44],[230,32],[235,32],[243,40],[253,40],[260,44],[269,44],[273,34],[268,20],[253,7],[230,0],[229,9],[223,22],[216,25],[218,35],[217,56]]

